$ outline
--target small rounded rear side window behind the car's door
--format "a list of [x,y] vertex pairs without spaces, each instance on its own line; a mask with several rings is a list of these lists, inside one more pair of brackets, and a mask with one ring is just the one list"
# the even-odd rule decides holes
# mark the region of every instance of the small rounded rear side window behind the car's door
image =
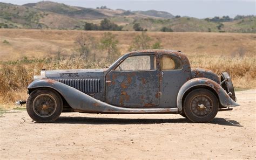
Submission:
[[183,65],[181,59],[171,55],[162,55],[161,70],[177,70],[182,69]]

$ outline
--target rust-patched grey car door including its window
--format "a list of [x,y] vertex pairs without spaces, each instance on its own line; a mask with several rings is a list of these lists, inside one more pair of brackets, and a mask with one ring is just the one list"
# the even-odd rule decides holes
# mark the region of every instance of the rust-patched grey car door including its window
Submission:
[[137,54],[125,58],[106,74],[106,102],[119,107],[159,106],[157,54]]

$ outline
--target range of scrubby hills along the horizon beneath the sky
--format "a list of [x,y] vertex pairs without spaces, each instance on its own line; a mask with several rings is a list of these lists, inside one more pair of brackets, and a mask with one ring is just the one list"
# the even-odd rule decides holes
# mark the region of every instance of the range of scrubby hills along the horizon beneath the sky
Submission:
[[147,31],[256,33],[255,16],[198,19],[156,10],[92,9],[49,1],[24,5],[0,2],[0,28],[83,30],[85,22],[99,24],[104,18],[122,25],[124,31],[133,31],[138,23]]

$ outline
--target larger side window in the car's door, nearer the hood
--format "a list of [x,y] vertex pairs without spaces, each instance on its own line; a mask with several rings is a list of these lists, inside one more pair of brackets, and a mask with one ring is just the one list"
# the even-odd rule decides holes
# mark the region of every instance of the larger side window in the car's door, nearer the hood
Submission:
[[155,55],[137,55],[126,58],[115,71],[147,71],[156,69]]

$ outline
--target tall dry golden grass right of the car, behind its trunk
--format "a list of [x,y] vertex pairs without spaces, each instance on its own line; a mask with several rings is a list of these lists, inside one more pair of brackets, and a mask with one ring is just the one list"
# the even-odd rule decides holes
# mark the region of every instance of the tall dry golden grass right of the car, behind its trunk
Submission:
[[192,67],[207,68],[218,75],[228,72],[237,90],[256,88],[255,57],[227,57],[223,55],[188,55]]

